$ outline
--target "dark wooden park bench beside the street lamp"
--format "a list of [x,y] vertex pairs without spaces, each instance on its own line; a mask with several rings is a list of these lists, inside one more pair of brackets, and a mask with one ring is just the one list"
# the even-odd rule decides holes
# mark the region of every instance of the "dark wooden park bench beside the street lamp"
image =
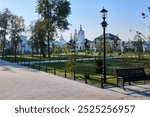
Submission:
[[144,68],[130,68],[130,69],[115,69],[116,78],[117,78],[117,86],[119,85],[119,81],[122,83],[122,87],[126,82],[134,82],[134,81],[145,81],[150,80],[150,75],[146,75]]

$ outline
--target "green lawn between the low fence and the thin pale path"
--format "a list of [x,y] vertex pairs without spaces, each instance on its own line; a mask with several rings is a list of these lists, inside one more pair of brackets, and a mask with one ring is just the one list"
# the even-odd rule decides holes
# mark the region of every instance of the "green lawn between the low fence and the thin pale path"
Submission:
[[[37,68],[39,64],[36,64]],[[54,68],[56,69],[56,74],[63,76],[65,74],[66,63],[46,63],[40,64],[41,69],[45,70],[45,66],[48,67],[48,71],[53,73]],[[108,83],[116,84],[115,80],[115,68],[129,68],[129,67],[144,67],[147,74],[150,74],[150,60],[149,59],[133,59],[133,58],[126,58],[126,59],[107,59],[107,78]],[[100,78],[103,76],[102,74],[96,74],[95,71],[95,61],[77,61],[76,63],[76,78],[79,80],[84,81],[84,74],[88,73],[90,78],[89,84],[100,85]],[[67,72],[68,78],[73,78],[73,74]]]

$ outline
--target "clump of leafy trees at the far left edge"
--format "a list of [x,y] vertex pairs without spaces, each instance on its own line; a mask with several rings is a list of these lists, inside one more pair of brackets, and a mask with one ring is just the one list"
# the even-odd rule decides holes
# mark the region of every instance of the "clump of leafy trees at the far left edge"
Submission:
[[[17,47],[21,45],[21,32],[24,31],[24,19],[22,16],[12,14],[8,8],[0,12],[0,44],[2,55],[13,54],[16,60]],[[6,37],[10,36],[8,41]]]

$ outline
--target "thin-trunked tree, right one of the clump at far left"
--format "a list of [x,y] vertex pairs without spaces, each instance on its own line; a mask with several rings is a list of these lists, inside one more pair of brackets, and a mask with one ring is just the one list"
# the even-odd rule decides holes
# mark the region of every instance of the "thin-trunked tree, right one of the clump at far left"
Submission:
[[23,17],[18,17],[16,15],[11,16],[11,27],[10,27],[10,38],[11,38],[11,46],[12,52],[15,56],[14,61],[16,62],[17,56],[17,46],[20,42],[20,34],[24,31],[24,19]]

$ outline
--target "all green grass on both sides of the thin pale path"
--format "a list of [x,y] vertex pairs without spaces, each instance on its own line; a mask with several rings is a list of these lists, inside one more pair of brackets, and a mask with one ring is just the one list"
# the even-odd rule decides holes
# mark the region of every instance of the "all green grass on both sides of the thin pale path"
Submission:
[[[83,58],[84,54],[78,54],[77,58]],[[92,56],[94,57],[94,56]],[[7,61],[12,61],[14,58],[12,56],[3,58]],[[57,60],[58,56],[51,57],[51,60]],[[61,55],[61,59],[68,59],[68,55]],[[24,58],[20,58],[17,56],[17,61],[39,61],[40,56],[24,56]],[[42,58],[42,60],[48,60],[48,58]],[[142,59],[138,60],[137,58],[131,56],[130,58],[122,58],[122,59],[107,59],[106,61],[106,71],[107,71],[107,78],[109,84],[116,84],[115,80],[115,68],[131,68],[131,67],[144,67],[147,74],[150,74],[150,58],[143,57]],[[35,64],[35,69],[39,69],[39,64]],[[40,70],[45,71],[46,66],[48,67],[48,72],[53,73],[54,68],[56,69],[56,74],[59,76],[65,76],[65,68],[66,63],[57,62],[57,63],[46,63],[46,64],[40,64]],[[76,78],[78,80],[83,81],[84,80],[84,74],[88,73],[90,75],[90,81],[88,81],[89,84],[94,84],[96,86],[100,85],[100,78],[103,76],[102,74],[96,74],[95,71],[95,61],[94,60],[88,60],[88,61],[77,61],[76,63]],[[73,78],[73,73],[67,72],[67,78]]]

